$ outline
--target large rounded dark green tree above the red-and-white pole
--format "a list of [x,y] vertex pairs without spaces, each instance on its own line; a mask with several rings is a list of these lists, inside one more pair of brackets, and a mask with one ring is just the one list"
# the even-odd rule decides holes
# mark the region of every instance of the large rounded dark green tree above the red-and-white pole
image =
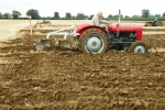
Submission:
[[26,15],[28,15],[28,16],[31,15],[32,19],[40,19],[40,18],[41,18],[40,14],[38,14],[38,11],[35,10],[35,9],[30,9],[30,10],[28,10]]

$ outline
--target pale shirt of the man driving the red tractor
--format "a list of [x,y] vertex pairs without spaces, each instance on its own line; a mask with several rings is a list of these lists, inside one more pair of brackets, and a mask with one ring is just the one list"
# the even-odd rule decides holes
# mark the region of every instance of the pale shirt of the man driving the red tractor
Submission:
[[97,15],[95,15],[91,19],[91,25],[100,26],[100,24],[108,24],[108,22],[107,21],[102,21],[100,18],[98,18]]

